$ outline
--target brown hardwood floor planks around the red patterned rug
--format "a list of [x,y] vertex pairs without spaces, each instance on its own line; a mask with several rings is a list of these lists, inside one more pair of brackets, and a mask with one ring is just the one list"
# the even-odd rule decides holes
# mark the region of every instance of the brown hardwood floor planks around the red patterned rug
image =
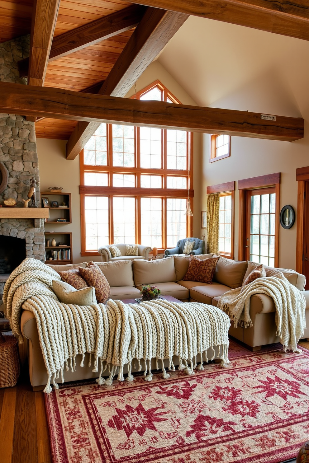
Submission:
[[26,370],[24,363],[18,384],[0,389],[0,463],[52,462],[44,393],[32,391]]

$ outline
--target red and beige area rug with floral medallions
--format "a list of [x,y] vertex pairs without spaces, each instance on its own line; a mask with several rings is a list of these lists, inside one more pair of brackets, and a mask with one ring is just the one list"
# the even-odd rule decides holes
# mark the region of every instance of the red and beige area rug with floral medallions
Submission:
[[[247,351],[248,352],[248,351]],[[280,345],[172,372],[45,394],[54,463],[279,463],[309,437],[309,352]]]

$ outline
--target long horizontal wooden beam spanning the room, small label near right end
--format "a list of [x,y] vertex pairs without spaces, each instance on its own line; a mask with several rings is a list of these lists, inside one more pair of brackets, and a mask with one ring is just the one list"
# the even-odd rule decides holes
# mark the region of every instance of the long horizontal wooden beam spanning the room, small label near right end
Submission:
[[224,133],[294,141],[303,138],[302,118],[135,100],[0,82],[0,112],[52,119]]

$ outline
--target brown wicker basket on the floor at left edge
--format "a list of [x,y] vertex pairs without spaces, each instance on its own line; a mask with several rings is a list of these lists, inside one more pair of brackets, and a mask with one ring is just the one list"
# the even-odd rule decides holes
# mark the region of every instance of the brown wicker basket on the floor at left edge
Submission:
[[15,386],[19,377],[17,339],[0,333],[0,388]]

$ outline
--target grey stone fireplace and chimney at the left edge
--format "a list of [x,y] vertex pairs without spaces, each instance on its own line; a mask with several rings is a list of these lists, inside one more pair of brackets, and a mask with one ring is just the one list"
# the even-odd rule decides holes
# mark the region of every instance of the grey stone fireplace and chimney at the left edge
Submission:
[[[19,78],[17,62],[29,56],[29,45],[30,36],[0,44],[0,81],[27,83],[26,79]],[[45,260],[44,220],[28,218],[25,214],[19,217],[17,210],[24,206],[23,200],[27,199],[32,177],[37,182],[36,206],[40,207],[38,154],[33,122],[27,121],[21,115],[0,113],[0,163],[8,172],[7,186],[0,194],[0,205],[3,205],[4,200],[8,198],[13,198],[17,202],[13,218],[5,218],[5,208],[0,207],[0,276],[2,275],[0,293],[2,293],[4,282],[1,280],[5,280],[3,275],[7,278],[7,274],[19,265],[17,257],[13,257],[12,263],[6,264],[7,258],[12,255],[12,248],[16,246],[14,244],[16,241],[13,243],[13,240],[7,238],[15,238],[17,243],[21,241],[25,245],[25,249],[18,252],[20,258],[25,256]],[[29,211],[30,209],[29,207]],[[32,215],[29,214],[29,217]],[[2,258],[1,249],[6,246],[8,250],[6,256]],[[2,264],[1,259],[3,259]],[[1,273],[1,268],[4,267],[10,271]]]

